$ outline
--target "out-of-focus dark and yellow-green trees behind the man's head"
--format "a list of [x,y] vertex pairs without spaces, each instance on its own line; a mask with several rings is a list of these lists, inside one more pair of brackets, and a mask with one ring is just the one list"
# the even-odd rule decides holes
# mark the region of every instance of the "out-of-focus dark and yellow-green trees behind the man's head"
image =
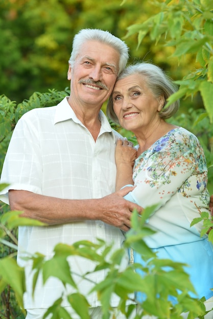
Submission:
[[[150,1],[128,0],[0,0],[0,94],[17,102],[33,92],[63,90],[74,35],[82,28],[108,30],[124,38],[127,27],[158,12]],[[130,62],[152,61],[181,79],[192,68],[185,57],[179,65],[173,48],[146,37],[137,48],[137,35],[125,39]],[[170,57],[170,58],[169,58]],[[198,103],[200,100],[198,101]],[[191,103],[189,101],[188,103]],[[194,101],[195,103],[195,101]]]

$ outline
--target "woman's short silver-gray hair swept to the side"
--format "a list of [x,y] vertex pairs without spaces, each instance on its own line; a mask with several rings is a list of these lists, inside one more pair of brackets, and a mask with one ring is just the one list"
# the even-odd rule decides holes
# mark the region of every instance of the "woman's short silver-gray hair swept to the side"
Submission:
[[[119,79],[123,79],[129,75],[140,74],[143,80],[145,81],[147,87],[151,90],[153,95],[158,98],[160,95],[163,95],[166,100],[170,95],[178,91],[178,87],[173,83],[173,80],[165,74],[161,68],[158,66],[141,62],[133,65],[129,65],[118,77]],[[112,92],[113,93],[113,92]],[[162,108],[159,116],[162,119],[169,119],[173,116],[179,109],[180,101],[177,100],[169,105],[168,108]],[[107,104],[107,116],[115,123],[119,123],[114,110],[113,110],[113,99],[112,94],[109,97],[109,101]]]

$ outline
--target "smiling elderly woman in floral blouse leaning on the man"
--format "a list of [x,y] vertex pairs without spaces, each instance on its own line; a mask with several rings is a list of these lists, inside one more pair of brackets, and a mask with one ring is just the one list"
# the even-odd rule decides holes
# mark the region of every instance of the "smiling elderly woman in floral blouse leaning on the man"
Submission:
[[[176,101],[165,108],[175,91],[171,79],[150,63],[131,65],[117,78],[107,114],[132,131],[138,142],[135,151],[127,141],[117,143],[117,189],[134,184],[126,199],[144,208],[160,203],[148,221],[156,232],[145,238],[147,245],[159,258],[190,265],[186,272],[196,297],[209,300],[213,296],[212,245],[207,235],[200,237],[202,223],[190,227],[201,211],[210,214],[206,161],[196,136],[166,121],[179,107]],[[143,262],[135,252],[134,260]],[[212,313],[208,315],[212,318]]]

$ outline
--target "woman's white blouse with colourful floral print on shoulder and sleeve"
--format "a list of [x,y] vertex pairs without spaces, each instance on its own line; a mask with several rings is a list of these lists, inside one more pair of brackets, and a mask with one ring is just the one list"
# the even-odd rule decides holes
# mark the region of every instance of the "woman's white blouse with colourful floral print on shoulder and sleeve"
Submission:
[[201,211],[209,212],[209,193],[206,160],[195,135],[182,127],[169,131],[135,160],[133,181],[137,187],[130,200],[144,208],[160,204],[149,219],[160,232],[147,239],[151,248],[200,236],[202,222],[190,224]]

